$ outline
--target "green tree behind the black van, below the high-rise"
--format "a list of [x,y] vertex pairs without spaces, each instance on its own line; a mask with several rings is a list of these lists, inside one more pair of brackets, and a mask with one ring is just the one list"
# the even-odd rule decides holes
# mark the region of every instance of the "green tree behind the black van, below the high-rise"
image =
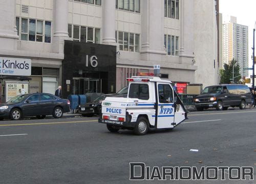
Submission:
[[234,83],[238,83],[241,79],[240,67],[237,61],[232,59],[228,64],[224,64],[224,69],[220,70],[221,84],[230,84],[233,78],[233,66],[234,66]]

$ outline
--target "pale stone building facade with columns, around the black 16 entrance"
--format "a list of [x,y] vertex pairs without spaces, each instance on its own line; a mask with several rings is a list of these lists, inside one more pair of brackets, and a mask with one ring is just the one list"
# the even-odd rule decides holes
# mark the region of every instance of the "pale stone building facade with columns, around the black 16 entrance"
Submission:
[[[176,83],[218,84],[217,2],[3,0],[0,57],[31,59],[30,83],[39,92],[53,93],[78,80],[62,80],[65,40],[116,46],[116,86],[110,93],[124,87],[127,77],[152,73],[155,64]],[[94,85],[94,78],[85,85],[87,79],[75,87]]]

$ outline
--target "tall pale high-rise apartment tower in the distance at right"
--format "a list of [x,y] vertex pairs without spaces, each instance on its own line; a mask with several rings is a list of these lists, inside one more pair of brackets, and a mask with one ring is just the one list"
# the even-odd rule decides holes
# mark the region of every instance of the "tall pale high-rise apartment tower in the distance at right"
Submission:
[[238,61],[242,77],[248,76],[248,26],[237,24],[236,17],[223,24],[223,64]]

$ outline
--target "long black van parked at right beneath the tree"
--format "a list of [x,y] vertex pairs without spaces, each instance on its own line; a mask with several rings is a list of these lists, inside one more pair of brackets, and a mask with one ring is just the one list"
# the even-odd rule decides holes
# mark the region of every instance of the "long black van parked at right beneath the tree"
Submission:
[[216,85],[205,87],[202,94],[194,99],[198,111],[209,107],[227,110],[228,107],[245,109],[251,103],[251,93],[247,85]]

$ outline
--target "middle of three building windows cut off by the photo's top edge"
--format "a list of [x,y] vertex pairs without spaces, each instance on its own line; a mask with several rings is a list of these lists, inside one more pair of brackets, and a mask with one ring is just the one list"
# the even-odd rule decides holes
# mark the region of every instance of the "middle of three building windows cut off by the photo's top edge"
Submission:
[[116,9],[140,13],[140,0],[116,0]]

